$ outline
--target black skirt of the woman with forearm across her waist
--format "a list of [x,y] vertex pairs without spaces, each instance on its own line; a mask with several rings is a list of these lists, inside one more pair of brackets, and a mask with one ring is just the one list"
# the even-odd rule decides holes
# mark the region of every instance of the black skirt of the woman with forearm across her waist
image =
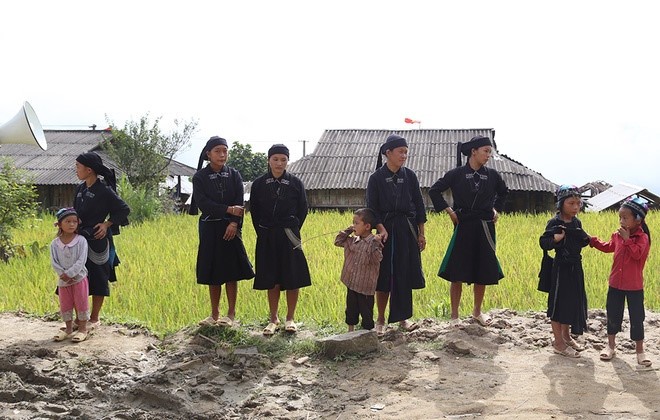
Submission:
[[231,241],[222,239],[228,224],[229,220],[206,222],[200,219],[196,267],[198,284],[220,286],[254,277],[240,230]]

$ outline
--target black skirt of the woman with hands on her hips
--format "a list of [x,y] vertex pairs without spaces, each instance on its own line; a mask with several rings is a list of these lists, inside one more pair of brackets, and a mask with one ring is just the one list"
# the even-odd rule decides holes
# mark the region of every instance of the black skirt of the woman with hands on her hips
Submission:
[[495,224],[470,220],[456,225],[438,276],[451,282],[497,284],[504,274],[495,255]]

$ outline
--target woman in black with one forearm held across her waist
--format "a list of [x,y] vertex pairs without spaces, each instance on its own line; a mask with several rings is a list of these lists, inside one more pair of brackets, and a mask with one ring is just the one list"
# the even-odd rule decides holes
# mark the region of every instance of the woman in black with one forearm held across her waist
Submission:
[[[254,277],[241,239],[243,224],[243,179],[226,165],[227,140],[213,136],[202,149],[193,176],[190,214],[202,211],[199,218],[197,283],[209,286],[211,315],[200,325],[231,327],[236,317],[238,280]],[[209,164],[202,168],[204,161]],[[227,294],[227,315],[220,318],[222,285]]]

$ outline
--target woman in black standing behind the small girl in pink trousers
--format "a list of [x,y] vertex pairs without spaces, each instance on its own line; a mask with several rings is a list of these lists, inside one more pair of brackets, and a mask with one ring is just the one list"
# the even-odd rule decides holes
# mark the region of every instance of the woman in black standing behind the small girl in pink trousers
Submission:
[[81,220],[78,232],[89,245],[85,266],[92,309],[87,330],[92,331],[99,325],[105,297],[110,296],[108,282],[117,280],[115,267],[119,265],[119,257],[112,238],[119,235],[119,226],[128,224],[131,210],[115,192],[115,174],[96,153],[83,153],[76,158],[76,175],[83,181],[76,188],[73,208]]

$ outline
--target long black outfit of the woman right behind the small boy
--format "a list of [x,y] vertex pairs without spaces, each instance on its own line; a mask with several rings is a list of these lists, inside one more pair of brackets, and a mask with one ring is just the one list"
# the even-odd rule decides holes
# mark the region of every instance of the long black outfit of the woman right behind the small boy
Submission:
[[412,316],[412,291],[425,286],[417,235],[426,222],[426,209],[417,175],[401,167],[396,173],[387,165],[369,176],[367,207],[388,233],[376,290],[390,293],[388,322]]

